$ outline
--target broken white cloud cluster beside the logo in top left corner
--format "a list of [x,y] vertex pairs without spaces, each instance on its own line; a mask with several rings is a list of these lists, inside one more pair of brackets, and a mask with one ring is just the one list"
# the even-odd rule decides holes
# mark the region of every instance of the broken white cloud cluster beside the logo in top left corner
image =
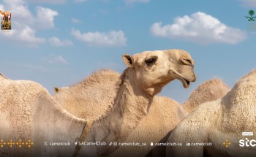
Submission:
[[23,0],[4,0],[4,4],[0,4],[0,7],[8,8],[12,12],[12,30],[10,33],[2,34],[4,38],[0,36],[0,40],[8,39],[26,47],[37,47],[45,42],[45,38],[36,36],[36,30],[53,28],[54,17],[58,15],[58,12],[44,7],[37,7],[37,15],[33,15],[28,4]]

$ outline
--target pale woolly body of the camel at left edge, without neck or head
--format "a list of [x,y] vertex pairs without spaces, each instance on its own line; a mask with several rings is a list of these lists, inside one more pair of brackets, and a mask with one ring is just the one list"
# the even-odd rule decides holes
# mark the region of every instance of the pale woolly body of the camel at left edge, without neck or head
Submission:
[[41,85],[0,75],[0,123],[0,156],[50,156],[71,153],[68,146],[46,146],[44,142],[71,142],[70,148],[75,148],[86,120],[64,111]]

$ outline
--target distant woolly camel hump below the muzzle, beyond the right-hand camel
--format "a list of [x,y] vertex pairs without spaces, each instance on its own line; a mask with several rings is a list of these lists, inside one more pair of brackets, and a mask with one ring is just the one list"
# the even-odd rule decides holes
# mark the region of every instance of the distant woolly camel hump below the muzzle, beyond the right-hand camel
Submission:
[[222,98],[230,91],[227,84],[220,79],[208,80],[199,85],[189,96],[186,102],[181,104],[187,112],[192,112],[199,104]]

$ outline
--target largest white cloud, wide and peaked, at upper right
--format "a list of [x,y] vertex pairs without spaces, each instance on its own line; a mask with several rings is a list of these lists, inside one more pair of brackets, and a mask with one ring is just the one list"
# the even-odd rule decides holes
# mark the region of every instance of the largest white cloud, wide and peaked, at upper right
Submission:
[[199,44],[236,44],[246,39],[246,33],[221,23],[204,12],[176,18],[174,23],[162,26],[162,22],[151,26],[151,34],[157,37],[181,39]]

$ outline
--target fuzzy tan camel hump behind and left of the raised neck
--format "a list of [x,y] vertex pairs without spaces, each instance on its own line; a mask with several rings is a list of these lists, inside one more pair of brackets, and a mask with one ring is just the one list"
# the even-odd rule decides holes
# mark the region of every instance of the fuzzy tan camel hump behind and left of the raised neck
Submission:
[[95,120],[113,107],[120,74],[110,69],[94,72],[77,85],[54,88],[53,96],[62,107],[78,118]]

